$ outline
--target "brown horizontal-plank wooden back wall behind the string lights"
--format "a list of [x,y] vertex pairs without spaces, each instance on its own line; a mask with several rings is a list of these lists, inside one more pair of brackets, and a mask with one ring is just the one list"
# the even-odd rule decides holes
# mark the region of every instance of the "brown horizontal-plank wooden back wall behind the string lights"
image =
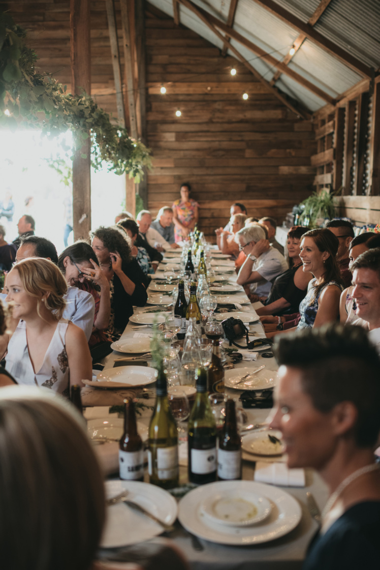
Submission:
[[171,205],[188,181],[210,237],[227,223],[235,201],[248,215],[281,222],[312,190],[312,123],[297,119],[234,58],[222,58],[218,48],[149,5],[145,23],[146,121],[154,157],[149,209],[155,214]]

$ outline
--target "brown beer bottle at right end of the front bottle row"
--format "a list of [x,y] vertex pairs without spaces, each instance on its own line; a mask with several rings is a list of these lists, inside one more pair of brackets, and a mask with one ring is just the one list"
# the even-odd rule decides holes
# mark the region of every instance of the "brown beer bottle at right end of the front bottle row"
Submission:
[[234,400],[226,401],[226,418],[219,433],[218,479],[242,478],[242,439],[236,424]]

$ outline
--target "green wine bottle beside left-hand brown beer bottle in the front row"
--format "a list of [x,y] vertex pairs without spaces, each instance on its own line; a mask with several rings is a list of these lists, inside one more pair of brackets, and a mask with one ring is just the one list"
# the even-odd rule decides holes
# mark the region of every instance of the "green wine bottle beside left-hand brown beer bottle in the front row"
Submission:
[[149,424],[149,482],[164,489],[178,486],[178,432],[169,401],[164,369],[158,370],[156,405]]

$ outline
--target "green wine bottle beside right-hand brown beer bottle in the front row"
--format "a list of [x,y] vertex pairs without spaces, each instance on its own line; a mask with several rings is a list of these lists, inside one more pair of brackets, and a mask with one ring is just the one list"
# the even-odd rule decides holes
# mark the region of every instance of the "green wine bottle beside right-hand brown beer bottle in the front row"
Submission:
[[216,481],[216,425],[207,394],[207,373],[195,374],[197,395],[189,418],[189,481],[203,484]]

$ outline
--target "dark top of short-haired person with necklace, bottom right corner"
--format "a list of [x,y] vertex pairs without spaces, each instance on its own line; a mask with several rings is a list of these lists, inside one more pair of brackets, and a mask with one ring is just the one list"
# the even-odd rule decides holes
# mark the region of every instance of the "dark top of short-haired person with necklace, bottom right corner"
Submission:
[[354,504],[311,541],[302,570],[380,568],[380,501]]

